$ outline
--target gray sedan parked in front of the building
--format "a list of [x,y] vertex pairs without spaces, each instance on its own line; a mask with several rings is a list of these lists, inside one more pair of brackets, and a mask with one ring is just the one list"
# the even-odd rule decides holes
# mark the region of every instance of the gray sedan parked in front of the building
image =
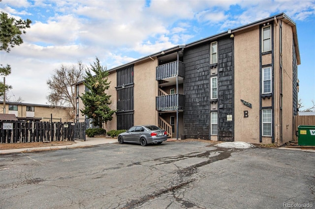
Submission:
[[167,140],[167,132],[153,125],[133,126],[128,131],[118,135],[118,142],[137,143],[141,146],[147,144],[161,144]]

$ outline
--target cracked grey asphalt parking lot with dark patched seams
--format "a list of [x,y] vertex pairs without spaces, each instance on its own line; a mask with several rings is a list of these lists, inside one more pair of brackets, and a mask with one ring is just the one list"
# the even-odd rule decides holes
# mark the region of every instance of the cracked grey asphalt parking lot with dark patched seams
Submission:
[[1,209],[315,207],[315,153],[208,142],[0,155]]

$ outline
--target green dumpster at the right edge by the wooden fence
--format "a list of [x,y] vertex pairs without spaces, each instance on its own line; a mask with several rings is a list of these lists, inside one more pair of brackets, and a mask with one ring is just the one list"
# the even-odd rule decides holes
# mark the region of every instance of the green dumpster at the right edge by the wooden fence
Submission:
[[299,145],[315,146],[315,126],[303,126],[298,128]]

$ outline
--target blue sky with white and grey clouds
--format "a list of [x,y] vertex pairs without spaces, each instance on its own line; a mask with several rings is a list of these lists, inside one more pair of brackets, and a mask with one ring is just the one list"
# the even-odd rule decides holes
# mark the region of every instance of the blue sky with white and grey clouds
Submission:
[[32,20],[24,44],[0,52],[11,100],[47,104],[46,81],[62,64],[97,56],[111,69],[284,12],[297,25],[299,98],[315,101],[315,0],[2,0],[0,9]]

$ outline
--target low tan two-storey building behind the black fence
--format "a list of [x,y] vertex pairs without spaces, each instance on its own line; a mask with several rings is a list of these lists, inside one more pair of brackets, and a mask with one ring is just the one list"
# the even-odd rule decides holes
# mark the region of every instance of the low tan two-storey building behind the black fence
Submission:
[[42,122],[73,122],[69,118],[71,109],[61,106],[50,106],[45,104],[28,104],[0,102],[0,113],[14,114],[18,120],[42,121]]

